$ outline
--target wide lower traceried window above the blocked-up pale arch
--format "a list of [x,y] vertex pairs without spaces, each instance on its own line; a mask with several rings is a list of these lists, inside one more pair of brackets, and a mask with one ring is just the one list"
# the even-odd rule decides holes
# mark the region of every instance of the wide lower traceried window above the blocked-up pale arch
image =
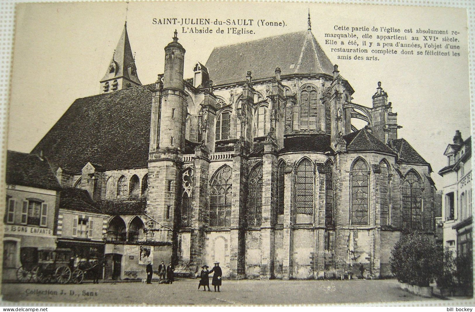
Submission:
[[209,226],[231,225],[232,170],[225,165],[211,178],[209,199]]

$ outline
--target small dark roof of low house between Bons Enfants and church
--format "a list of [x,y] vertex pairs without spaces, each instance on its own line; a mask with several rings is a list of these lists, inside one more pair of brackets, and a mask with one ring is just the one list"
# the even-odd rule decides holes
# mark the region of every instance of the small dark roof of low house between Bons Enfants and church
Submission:
[[60,193],[59,208],[102,213],[99,210],[99,205],[91,199],[89,192],[85,189],[67,188]]

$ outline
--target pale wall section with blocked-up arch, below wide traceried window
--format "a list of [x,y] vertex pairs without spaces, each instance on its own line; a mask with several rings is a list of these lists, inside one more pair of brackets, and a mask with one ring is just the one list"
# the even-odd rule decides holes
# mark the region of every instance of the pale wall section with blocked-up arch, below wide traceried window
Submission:
[[229,277],[230,239],[231,233],[229,230],[209,231],[205,234],[204,264],[211,269],[215,261],[220,262],[219,266],[225,278]]

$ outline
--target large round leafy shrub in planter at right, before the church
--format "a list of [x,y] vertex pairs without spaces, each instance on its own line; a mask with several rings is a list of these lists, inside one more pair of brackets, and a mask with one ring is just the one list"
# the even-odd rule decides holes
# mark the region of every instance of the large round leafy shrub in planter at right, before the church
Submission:
[[443,268],[443,250],[427,235],[402,234],[391,251],[390,266],[399,282],[427,287]]

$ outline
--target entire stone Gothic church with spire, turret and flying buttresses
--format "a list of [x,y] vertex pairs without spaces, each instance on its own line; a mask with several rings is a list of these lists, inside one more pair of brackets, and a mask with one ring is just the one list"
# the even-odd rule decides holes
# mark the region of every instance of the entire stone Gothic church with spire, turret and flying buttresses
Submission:
[[218,261],[229,279],[378,278],[403,231],[434,232],[430,164],[398,137],[380,82],[370,105],[352,102],[310,17],[214,48],[192,78],[181,43],[175,31],[164,73],[142,85],[125,25],[100,94],[33,150],[112,216],[105,253],[123,270],[138,250],[127,246],[143,245],[181,274]]

